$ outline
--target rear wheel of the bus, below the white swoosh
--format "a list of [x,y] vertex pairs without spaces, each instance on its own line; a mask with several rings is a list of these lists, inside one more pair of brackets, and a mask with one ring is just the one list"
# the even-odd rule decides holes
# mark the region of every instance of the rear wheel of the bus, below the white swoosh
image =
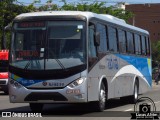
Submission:
[[138,93],[139,93],[138,80],[136,80],[134,83],[133,95],[130,97],[131,103],[136,103],[136,101],[138,100]]

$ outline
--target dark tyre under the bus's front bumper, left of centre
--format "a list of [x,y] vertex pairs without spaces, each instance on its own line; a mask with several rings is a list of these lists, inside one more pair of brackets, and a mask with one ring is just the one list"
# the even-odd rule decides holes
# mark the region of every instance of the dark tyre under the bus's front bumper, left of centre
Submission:
[[33,112],[41,112],[43,109],[42,103],[29,103],[29,106]]

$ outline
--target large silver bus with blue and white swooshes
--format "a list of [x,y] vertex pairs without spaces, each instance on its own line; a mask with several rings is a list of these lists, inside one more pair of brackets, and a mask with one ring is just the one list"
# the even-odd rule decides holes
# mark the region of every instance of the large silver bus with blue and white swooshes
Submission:
[[[149,32],[111,15],[46,11],[13,20],[9,61],[11,103],[91,103],[151,89]],[[128,100],[129,100],[128,99]]]

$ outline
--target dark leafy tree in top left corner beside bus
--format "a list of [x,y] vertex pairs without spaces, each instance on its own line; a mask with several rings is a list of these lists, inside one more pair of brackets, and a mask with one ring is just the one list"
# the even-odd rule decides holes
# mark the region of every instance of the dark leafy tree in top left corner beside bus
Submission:
[[[5,48],[5,44],[3,43],[4,39],[4,27],[10,24],[13,19],[21,13],[25,12],[31,12],[35,11],[36,8],[34,7],[33,4],[29,6],[23,6],[23,5],[18,5],[14,4],[13,2],[16,0],[3,0],[0,2],[0,44],[1,44],[1,49]],[[10,39],[10,34],[9,32],[6,33],[7,36],[7,48],[9,48],[9,39]]]

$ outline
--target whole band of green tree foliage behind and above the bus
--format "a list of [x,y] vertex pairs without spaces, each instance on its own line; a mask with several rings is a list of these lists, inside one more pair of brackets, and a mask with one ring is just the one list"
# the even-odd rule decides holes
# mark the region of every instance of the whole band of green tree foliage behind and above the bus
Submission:
[[[48,10],[68,10],[68,11],[91,11],[99,14],[111,14],[113,16],[116,16],[118,18],[124,19],[125,21],[128,20],[128,18],[133,17],[133,14],[131,12],[124,11],[122,9],[113,9],[113,7],[106,7],[104,2],[98,3],[78,3],[78,4],[68,4],[66,0],[62,0],[64,2],[64,5],[59,7],[56,4],[50,4],[50,5],[43,5],[40,7],[35,7],[35,3],[39,3],[40,0],[34,0],[34,2],[28,6],[14,4],[13,2],[16,0],[3,0],[3,2],[0,2],[0,44],[1,44],[1,38],[3,33],[3,28],[10,24],[15,16],[26,13],[26,12],[33,12],[33,11],[48,11]],[[47,2],[52,3],[52,0],[48,0]],[[6,33],[6,39],[7,39],[7,47],[9,46],[9,39],[10,34]]]

